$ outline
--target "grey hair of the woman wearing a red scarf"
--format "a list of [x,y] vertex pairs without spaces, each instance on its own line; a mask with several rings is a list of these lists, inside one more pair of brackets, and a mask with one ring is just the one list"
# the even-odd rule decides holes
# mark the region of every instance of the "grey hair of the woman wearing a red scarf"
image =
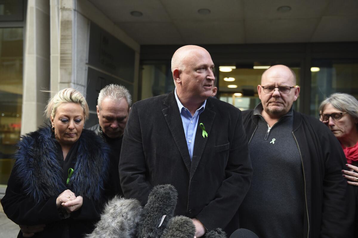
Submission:
[[[321,102],[319,112],[323,112],[325,106],[331,104],[340,111],[347,112],[353,118],[358,119],[358,100],[348,93],[334,93]],[[357,124],[358,129],[358,124]]]

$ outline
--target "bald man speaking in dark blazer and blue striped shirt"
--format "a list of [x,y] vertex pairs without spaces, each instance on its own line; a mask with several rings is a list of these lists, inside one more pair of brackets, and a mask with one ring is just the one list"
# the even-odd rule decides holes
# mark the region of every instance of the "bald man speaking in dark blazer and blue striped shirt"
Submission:
[[192,218],[196,237],[238,228],[252,175],[241,111],[211,97],[213,68],[202,47],[175,51],[175,89],[132,106],[119,164],[125,197],[143,205],[153,186],[174,185],[175,215]]

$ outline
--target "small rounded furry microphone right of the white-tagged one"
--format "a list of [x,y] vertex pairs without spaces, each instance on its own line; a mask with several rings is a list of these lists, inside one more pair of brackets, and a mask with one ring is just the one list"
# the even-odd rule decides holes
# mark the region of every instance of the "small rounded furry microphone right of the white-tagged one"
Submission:
[[195,225],[189,217],[175,216],[171,218],[161,238],[194,238]]

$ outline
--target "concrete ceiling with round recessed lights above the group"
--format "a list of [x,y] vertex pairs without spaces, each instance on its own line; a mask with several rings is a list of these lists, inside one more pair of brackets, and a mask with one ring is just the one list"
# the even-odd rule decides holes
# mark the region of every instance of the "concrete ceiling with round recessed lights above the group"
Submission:
[[89,1],[141,45],[358,41],[358,0]]

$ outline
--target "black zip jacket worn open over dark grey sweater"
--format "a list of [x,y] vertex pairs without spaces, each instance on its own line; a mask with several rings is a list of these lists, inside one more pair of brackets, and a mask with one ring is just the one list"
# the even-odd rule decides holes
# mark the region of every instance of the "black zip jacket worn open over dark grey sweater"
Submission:
[[[255,133],[257,120],[253,110],[243,111],[249,143]],[[347,168],[347,160],[337,138],[318,119],[296,111],[292,133],[301,153],[304,170],[305,237],[353,237],[354,191],[342,176],[341,171]]]

